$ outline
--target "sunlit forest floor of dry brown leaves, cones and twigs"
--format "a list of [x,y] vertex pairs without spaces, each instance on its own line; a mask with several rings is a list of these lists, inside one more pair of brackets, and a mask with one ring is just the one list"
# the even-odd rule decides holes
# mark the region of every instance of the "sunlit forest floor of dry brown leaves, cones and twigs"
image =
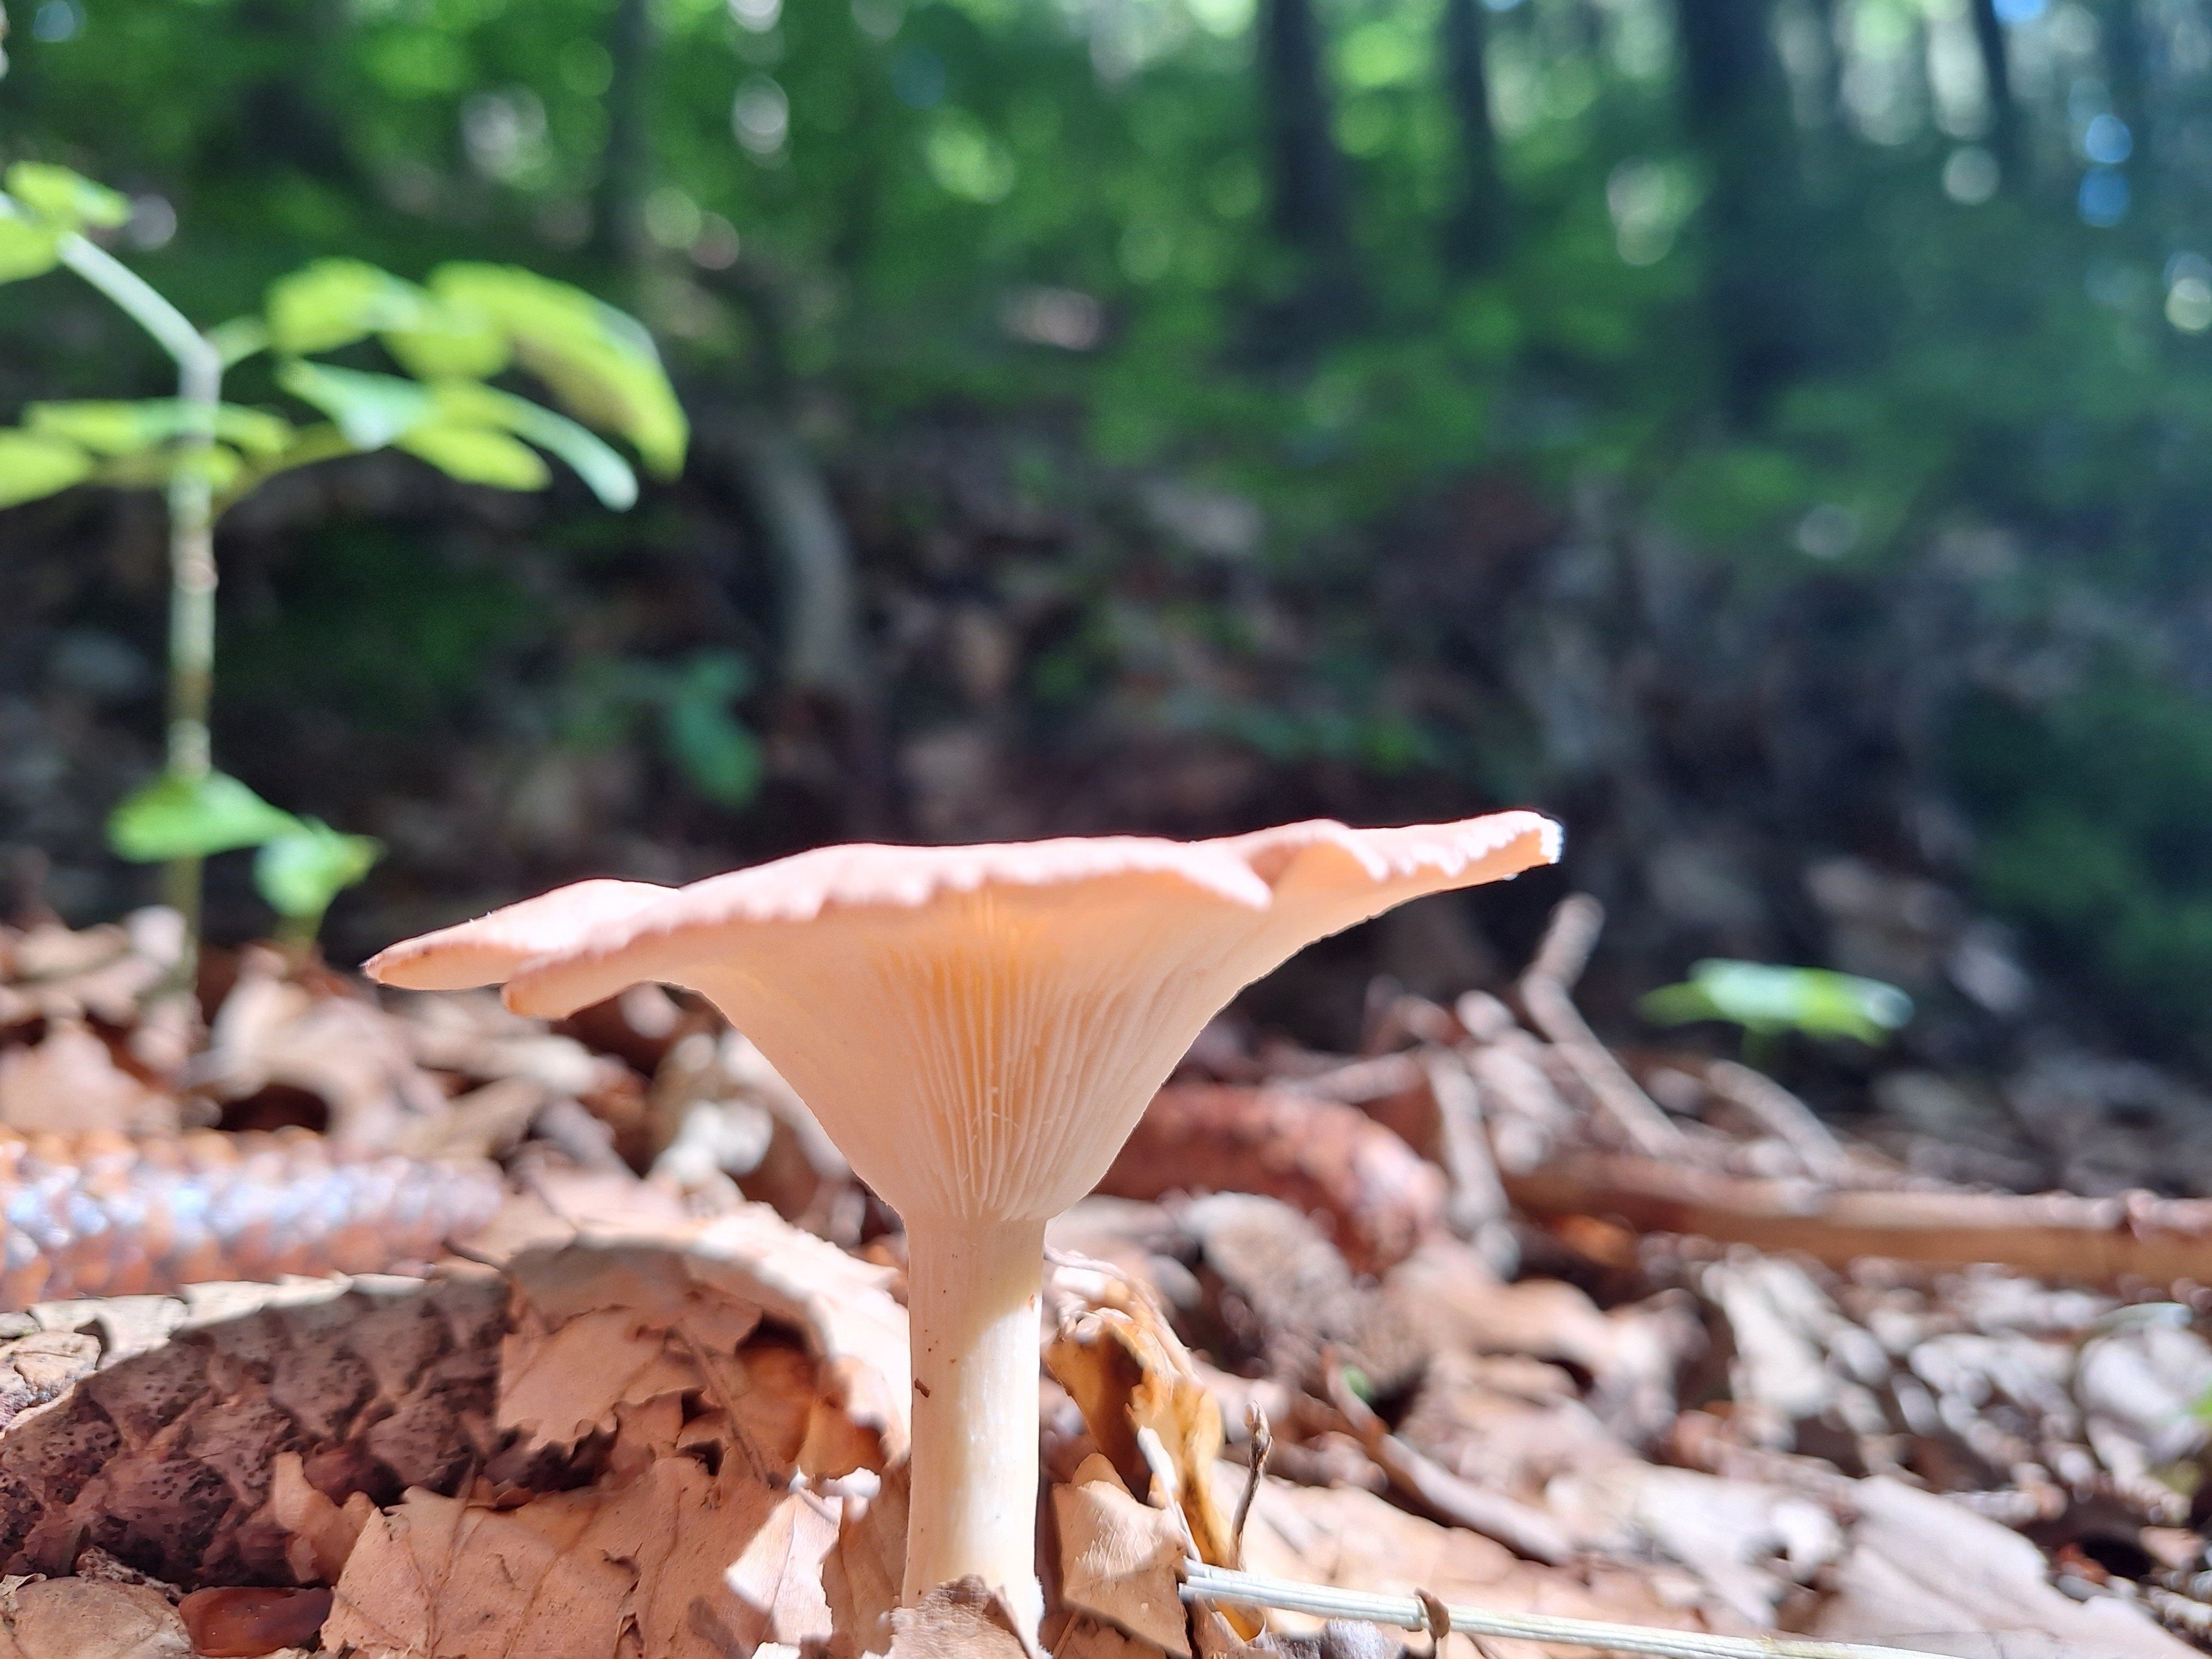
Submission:
[[[1498,995],[1380,987],[1358,1053],[1208,1029],[1053,1225],[1044,1646],[1405,1639],[1261,1635],[1201,1595],[1245,1568],[2212,1650],[2212,1203],[1966,1186],[1745,1066],[1624,1064],[1571,1000],[1595,920]],[[987,1601],[891,1615],[902,1237],[743,1037],[270,949],[195,1009],[173,951],[159,911],[0,936],[0,1652],[1020,1652]]]

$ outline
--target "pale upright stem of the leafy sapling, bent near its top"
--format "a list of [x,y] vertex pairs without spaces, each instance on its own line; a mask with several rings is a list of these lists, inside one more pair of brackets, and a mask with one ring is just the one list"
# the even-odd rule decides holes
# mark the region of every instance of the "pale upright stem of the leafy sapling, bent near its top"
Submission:
[[[164,770],[197,783],[212,768],[208,703],[215,692],[215,491],[208,451],[215,411],[223,396],[223,358],[190,319],[97,243],[71,232],[60,243],[62,263],[88,281],[177,365],[177,403],[184,422],[177,467],[168,480],[168,752]],[[170,858],[161,867],[161,896],[184,916],[184,956],[177,982],[192,984],[199,962],[199,858]]]

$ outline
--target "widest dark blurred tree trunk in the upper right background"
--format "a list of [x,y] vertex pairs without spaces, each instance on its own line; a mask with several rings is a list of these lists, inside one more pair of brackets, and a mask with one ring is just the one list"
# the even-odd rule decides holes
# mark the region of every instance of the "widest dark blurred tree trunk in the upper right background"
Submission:
[[1765,0],[1674,0],[1686,124],[1712,168],[1705,290],[1730,411],[1750,418],[1832,356],[1829,283]]

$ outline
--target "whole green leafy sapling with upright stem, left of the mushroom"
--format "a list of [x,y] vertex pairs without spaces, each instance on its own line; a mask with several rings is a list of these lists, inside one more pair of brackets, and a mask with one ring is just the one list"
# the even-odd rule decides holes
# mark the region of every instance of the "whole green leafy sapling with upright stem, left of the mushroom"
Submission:
[[[71,270],[177,363],[175,398],[33,403],[18,427],[0,429],[0,507],[73,484],[168,495],[168,754],[161,774],[115,810],[111,845],[168,865],[168,900],[186,918],[184,971],[199,936],[199,865],[215,852],[259,847],[261,894],[288,933],[312,938],[332,896],[367,874],[378,847],[294,818],[212,765],[217,520],[279,473],[372,449],[403,449],[493,489],[544,489],[553,456],[604,507],[624,511],[637,476],[593,427],[672,478],[690,438],[684,409],[639,323],[515,265],[440,265],[418,285],[358,259],[319,259],[272,283],[259,312],[201,332],[91,239],[131,217],[124,197],[38,161],[18,161],[4,184],[0,283]],[[319,361],[372,343],[400,374]],[[261,354],[307,418],[221,400],[223,376]],[[560,409],[491,385],[511,369]],[[684,712],[697,695],[664,701],[672,728],[697,726]],[[692,748],[719,743],[710,770],[737,790],[745,757],[726,734],[701,732]]]

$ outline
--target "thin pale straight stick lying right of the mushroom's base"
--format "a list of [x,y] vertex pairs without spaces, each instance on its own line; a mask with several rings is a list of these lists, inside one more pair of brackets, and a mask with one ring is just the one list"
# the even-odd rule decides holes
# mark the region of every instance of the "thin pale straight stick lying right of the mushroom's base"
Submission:
[[[1203,1562],[1183,1562],[1186,1601],[1232,1601],[1250,1608],[1283,1608],[1321,1619],[1367,1619],[1398,1630],[1431,1630],[1429,1613],[1411,1595],[1371,1595],[1318,1584],[1290,1584],[1256,1573],[1230,1573]],[[1876,1648],[1863,1641],[1796,1641],[1792,1637],[1712,1637],[1699,1630],[1661,1630],[1646,1624],[1559,1619],[1548,1613],[1493,1613],[1449,1606],[1444,1613],[1460,1635],[1513,1641],[1555,1641],[1599,1652],[1644,1652],[1655,1659],[1929,1659],[1924,1650]]]

